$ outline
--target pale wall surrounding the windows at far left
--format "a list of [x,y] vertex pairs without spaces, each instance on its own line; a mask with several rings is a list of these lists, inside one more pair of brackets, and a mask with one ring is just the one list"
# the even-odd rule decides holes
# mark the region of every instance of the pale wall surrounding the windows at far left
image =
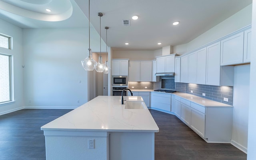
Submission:
[[13,56],[14,100],[16,102],[0,105],[0,115],[18,110],[23,106],[23,49],[22,29],[0,19],[0,33],[13,38],[13,49],[0,48],[0,53]]

